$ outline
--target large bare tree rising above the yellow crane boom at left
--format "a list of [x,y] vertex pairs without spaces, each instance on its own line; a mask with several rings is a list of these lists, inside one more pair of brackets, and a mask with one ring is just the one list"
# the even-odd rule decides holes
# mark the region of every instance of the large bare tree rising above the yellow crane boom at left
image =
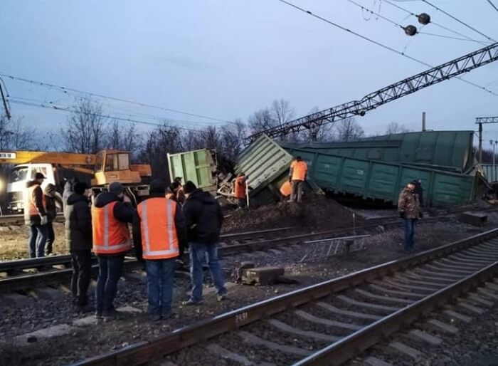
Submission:
[[102,105],[90,98],[78,100],[68,117],[61,135],[68,150],[82,154],[95,154],[105,142],[105,117]]

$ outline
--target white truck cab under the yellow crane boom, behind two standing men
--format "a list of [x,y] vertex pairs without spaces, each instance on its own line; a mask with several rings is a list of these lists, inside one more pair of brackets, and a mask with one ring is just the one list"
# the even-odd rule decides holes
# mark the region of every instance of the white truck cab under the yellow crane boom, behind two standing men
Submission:
[[55,167],[52,164],[19,164],[11,170],[9,183],[7,184],[7,209],[11,212],[21,214],[24,209],[23,195],[26,192],[26,183],[35,179],[35,174],[41,173],[45,176],[41,189],[47,184],[56,185]]

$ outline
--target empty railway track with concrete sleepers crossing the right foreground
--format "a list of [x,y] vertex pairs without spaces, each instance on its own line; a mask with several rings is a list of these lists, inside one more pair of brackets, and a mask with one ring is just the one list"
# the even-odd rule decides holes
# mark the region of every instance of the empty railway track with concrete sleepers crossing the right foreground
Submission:
[[[213,365],[222,359],[230,365],[342,365],[434,310],[458,319],[463,318],[460,311],[478,312],[492,305],[498,286],[489,281],[497,273],[494,229],[75,365],[143,365],[165,356],[166,365],[181,365],[189,360],[186,355]],[[445,304],[452,307],[441,308]],[[208,361],[203,355],[209,355]]]

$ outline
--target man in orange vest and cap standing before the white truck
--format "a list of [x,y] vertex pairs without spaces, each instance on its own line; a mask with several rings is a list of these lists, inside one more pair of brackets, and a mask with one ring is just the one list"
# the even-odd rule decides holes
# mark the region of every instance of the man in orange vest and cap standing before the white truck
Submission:
[[35,179],[26,183],[24,192],[24,222],[29,226],[28,252],[30,258],[45,255],[47,241],[47,213],[45,210],[45,197],[41,190],[45,176],[36,173]]

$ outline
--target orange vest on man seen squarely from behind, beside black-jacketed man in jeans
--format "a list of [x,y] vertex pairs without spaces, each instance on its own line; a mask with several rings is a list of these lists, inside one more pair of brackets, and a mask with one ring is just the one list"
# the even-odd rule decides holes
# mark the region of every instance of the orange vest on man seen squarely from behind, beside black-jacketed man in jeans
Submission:
[[176,202],[154,197],[137,206],[142,234],[144,259],[167,259],[179,256],[178,235],[174,218]]

